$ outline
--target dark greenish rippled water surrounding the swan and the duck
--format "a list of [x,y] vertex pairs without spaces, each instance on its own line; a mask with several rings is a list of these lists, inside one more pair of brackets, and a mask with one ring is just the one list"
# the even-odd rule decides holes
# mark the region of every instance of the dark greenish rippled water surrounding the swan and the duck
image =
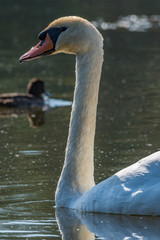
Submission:
[[[74,56],[21,65],[18,59],[60,16],[85,17],[102,33],[105,60],[95,139],[96,182],[160,149],[159,10],[158,0],[0,1],[0,93],[23,92],[30,78],[40,77],[52,97],[72,101]],[[58,211],[56,218],[54,193],[70,110],[47,111],[40,127],[25,113],[3,118],[0,113],[0,239],[62,239],[57,221],[68,240],[159,239],[159,218],[66,211]]]

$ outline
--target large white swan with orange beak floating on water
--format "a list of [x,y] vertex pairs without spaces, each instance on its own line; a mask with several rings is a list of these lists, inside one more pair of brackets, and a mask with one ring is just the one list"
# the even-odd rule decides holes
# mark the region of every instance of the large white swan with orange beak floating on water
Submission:
[[88,212],[160,215],[160,152],[95,186],[93,149],[103,39],[80,17],[53,21],[20,62],[55,53],[76,54],[76,85],[56,206]]

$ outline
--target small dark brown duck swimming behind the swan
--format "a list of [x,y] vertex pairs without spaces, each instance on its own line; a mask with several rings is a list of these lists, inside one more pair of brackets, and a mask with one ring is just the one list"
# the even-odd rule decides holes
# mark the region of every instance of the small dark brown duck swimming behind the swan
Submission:
[[26,93],[4,93],[0,94],[0,107],[26,108],[44,105],[45,91],[44,81],[40,78],[32,78],[28,82]]

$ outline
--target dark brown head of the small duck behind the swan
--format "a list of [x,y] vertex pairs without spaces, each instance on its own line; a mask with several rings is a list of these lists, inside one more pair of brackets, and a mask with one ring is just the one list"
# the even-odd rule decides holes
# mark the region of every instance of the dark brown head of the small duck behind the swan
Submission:
[[44,81],[39,78],[30,79],[26,92],[38,98],[43,98],[44,95],[48,96],[48,92],[45,90]]

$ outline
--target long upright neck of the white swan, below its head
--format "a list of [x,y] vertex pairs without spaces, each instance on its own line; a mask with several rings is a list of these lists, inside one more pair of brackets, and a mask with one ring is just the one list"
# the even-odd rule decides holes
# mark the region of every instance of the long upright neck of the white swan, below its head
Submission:
[[94,186],[94,136],[103,50],[76,57],[76,86],[63,171],[56,205],[74,200]]

